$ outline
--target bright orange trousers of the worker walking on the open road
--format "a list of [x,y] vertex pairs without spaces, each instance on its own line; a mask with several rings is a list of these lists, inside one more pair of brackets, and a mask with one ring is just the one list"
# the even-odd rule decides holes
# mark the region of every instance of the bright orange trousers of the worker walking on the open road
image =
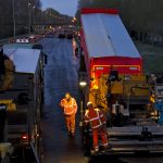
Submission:
[[65,123],[66,123],[68,133],[74,134],[75,133],[75,114],[65,115]]

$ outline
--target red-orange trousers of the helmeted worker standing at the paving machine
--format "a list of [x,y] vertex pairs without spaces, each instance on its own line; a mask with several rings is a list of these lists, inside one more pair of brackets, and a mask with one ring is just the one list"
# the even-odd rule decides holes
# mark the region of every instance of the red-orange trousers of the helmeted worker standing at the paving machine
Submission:
[[99,148],[99,136],[101,137],[102,140],[102,146],[106,147],[108,146],[108,137],[106,137],[106,131],[103,128],[97,128],[92,129],[92,141],[93,141],[93,148]]

